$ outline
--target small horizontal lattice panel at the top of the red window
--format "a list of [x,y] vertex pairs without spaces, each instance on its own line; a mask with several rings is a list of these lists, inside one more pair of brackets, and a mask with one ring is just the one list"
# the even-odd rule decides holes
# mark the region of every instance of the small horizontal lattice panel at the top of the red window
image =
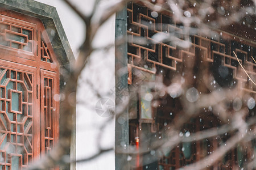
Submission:
[[36,60],[36,38],[36,24],[0,14],[1,51]]

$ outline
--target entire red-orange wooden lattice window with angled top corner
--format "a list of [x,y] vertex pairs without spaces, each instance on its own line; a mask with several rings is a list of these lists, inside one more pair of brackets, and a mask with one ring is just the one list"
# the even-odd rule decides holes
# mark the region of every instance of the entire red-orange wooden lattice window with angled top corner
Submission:
[[0,10],[0,169],[26,169],[59,136],[59,64],[43,23]]

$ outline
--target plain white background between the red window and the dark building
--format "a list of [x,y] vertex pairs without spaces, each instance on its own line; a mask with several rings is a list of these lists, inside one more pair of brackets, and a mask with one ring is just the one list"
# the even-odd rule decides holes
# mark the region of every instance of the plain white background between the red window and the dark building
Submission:
[[[75,54],[79,54],[79,47],[84,40],[85,27],[82,20],[61,0],[36,0],[55,6],[63,24],[69,44]],[[102,2],[101,6],[106,6],[112,1]],[[92,9],[93,0],[73,0],[72,3],[84,14],[89,14]],[[98,10],[102,11],[102,10]],[[110,43],[114,44],[115,31],[114,16],[107,23],[102,25],[93,41],[94,45],[104,46]],[[90,81],[93,88],[86,83]],[[76,115],[76,155],[77,159],[86,158],[98,151],[97,134],[100,132],[98,126],[106,123],[106,118],[98,116],[95,111],[95,105],[99,99],[93,92],[98,90],[103,97],[108,97],[114,101],[114,48],[106,51],[94,52],[91,56],[89,65],[81,75],[81,83],[77,91],[77,115]],[[102,147],[114,147],[114,121],[108,123],[107,128],[102,133]],[[114,169],[114,151],[101,155],[100,158],[88,163],[77,164],[77,169]]]

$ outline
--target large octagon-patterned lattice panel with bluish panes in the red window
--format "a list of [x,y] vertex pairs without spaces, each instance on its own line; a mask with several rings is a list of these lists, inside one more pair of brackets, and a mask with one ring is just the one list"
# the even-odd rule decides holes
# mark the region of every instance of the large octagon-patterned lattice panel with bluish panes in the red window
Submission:
[[34,75],[3,66],[0,69],[0,166],[24,169],[33,156]]

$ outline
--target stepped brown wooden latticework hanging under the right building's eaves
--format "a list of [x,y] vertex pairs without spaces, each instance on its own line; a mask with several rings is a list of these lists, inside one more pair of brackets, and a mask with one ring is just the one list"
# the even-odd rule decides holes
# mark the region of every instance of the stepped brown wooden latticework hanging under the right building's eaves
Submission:
[[[251,44],[240,37],[234,37],[219,31],[209,36],[193,33],[189,36],[191,46],[181,49],[178,44],[184,40],[182,27],[172,20],[171,14],[154,14],[149,8],[137,3],[131,2],[127,5],[129,69],[135,67],[152,74],[156,73],[156,66],[176,70],[177,64],[182,63],[184,58],[195,56],[200,51],[205,61],[220,60],[222,66],[233,70],[234,79],[241,80],[245,84],[246,91],[256,92],[245,74],[238,75],[240,65],[233,54],[234,51],[255,82],[256,63],[253,62],[251,56],[256,56],[256,44]],[[152,37],[156,33],[160,33],[159,37],[162,37],[163,41],[161,40],[155,44]],[[168,41],[164,41],[164,37],[168,37]],[[229,39],[224,39],[224,37],[229,37]],[[129,83],[131,83],[131,74],[129,74],[129,80]]]

